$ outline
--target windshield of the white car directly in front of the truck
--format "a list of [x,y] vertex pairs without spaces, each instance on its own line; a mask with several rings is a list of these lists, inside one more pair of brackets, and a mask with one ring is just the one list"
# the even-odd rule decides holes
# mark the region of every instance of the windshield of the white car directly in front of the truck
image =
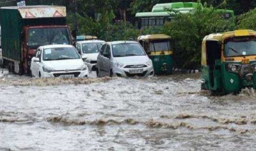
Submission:
[[79,59],[76,49],[73,47],[44,49],[43,60],[74,60]]

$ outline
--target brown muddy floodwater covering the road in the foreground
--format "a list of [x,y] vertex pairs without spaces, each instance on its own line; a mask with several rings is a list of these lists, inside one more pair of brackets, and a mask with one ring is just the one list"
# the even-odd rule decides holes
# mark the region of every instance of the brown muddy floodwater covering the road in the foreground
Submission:
[[0,74],[0,150],[255,150],[256,93],[211,96],[200,74]]

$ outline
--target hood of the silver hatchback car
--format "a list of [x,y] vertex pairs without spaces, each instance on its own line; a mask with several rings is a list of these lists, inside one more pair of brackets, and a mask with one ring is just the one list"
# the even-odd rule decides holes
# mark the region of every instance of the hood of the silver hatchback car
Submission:
[[145,64],[149,60],[148,56],[127,56],[127,57],[116,57],[114,61],[122,63],[124,65],[139,65]]

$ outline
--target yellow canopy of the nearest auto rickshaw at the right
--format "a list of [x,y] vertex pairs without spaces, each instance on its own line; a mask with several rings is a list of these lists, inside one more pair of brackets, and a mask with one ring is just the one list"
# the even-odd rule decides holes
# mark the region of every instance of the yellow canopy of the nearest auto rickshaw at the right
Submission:
[[[236,31],[227,31],[225,33],[212,33],[210,35],[207,35],[204,37],[204,40],[202,42],[202,65],[207,65],[206,61],[206,41],[218,41],[223,44],[224,40],[226,38],[230,37],[237,37],[237,36],[256,36],[256,31],[249,30],[249,29],[243,29],[243,30],[236,30]],[[221,47],[223,49],[223,47]]]

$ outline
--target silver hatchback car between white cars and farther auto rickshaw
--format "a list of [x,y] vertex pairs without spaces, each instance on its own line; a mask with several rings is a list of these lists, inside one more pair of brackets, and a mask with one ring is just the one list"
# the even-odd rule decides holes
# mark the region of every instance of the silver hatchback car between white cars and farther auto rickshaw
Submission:
[[154,76],[152,61],[138,42],[106,42],[97,58],[97,76]]

